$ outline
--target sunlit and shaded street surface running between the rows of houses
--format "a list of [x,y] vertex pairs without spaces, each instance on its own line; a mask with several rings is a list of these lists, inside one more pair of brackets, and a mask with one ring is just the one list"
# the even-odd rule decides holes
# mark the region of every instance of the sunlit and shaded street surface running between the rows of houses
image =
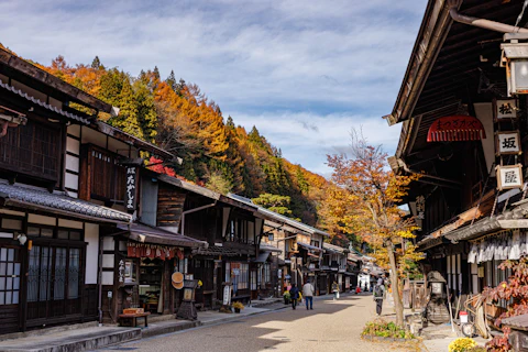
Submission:
[[[389,314],[389,308],[384,308]],[[337,301],[316,300],[314,310],[297,307],[241,318],[237,321],[144,339],[109,350],[118,351],[406,351],[360,339],[366,321],[375,318],[371,296]],[[407,350],[408,351],[408,350]]]

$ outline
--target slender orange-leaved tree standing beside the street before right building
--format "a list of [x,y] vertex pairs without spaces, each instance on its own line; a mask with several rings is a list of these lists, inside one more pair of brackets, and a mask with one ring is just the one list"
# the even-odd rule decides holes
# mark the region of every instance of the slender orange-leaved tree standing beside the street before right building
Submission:
[[416,177],[395,175],[386,157],[381,146],[370,145],[353,132],[350,157],[328,155],[328,165],[333,168],[333,183],[344,190],[343,201],[353,205],[343,222],[375,249],[378,264],[391,270],[396,323],[403,327],[400,274],[405,263],[421,255],[409,241],[415,238],[414,220],[406,219],[398,205]]

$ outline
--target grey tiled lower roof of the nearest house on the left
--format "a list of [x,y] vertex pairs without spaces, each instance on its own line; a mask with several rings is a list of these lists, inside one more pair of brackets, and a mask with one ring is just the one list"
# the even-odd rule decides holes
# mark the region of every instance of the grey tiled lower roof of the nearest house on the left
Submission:
[[125,212],[30,187],[0,183],[0,198],[4,198],[7,204],[18,205],[22,208],[44,208],[47,211],[55,210],[56,212],[68,213],[74,217],[78,215],[94,220],[132,221],[132,216]]

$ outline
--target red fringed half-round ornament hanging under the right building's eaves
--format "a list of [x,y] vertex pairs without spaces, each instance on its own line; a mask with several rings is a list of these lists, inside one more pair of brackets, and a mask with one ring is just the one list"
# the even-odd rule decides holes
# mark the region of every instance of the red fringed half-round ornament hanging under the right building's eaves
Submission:
[[480,141],[486,138],[482,122],[474,117],[454,116],[436,120],[427,142]]

